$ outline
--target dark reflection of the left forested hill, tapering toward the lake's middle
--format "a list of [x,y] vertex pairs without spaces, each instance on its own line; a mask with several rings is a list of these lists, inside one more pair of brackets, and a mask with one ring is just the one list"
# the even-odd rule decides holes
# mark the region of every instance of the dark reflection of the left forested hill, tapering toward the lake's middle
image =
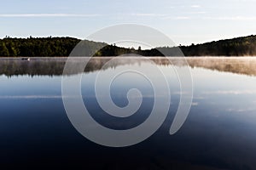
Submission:
[[[102,66],[105,65],[111,58],[104,59],[90,59],[84,72],[99,71]],[[125,61],[115,62],[108,67],[116,67],[118,65],[125,65]],[[33,58],[30,61],[22,59],[1,59],[0,60],[0,75],[6,75],[8,77],[18,75],[30,75],[30,76],[60,76],[63,73],[64,66],[67,58]],[[75,62],[80,62],[79,59],[74,59]],[[72,72],[70,74],[77,74],[79,72]]]

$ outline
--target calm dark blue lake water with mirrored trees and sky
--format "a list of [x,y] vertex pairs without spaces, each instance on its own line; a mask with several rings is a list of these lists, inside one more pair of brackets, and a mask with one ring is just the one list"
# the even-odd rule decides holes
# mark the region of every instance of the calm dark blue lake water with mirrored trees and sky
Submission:
[[[153,59],[169,75],[171,109],[154,135],[124,148],[95,144],[68,120],[61,99],[65,60],[0,60],[1,169],[255,169],[256,59],[189,59],[194,99],[186,122],[173,135],[169,129],[180,99],[177,76],[166,59]],[[105,62],[94,59],[85,68],[84,105],[105,127],[136,127],[152,109],[153,90],[135,74],[117,78],[110,88],[116,105],[127,105],[130,88],[141,90],[143,103],[129,118],[108,116],[97,104],[94,92],[96,74]],[[103,72],[108,77],[125,67],[144,68],[154,74],[150,63],[137,63],[136,59],[120,60]]]

